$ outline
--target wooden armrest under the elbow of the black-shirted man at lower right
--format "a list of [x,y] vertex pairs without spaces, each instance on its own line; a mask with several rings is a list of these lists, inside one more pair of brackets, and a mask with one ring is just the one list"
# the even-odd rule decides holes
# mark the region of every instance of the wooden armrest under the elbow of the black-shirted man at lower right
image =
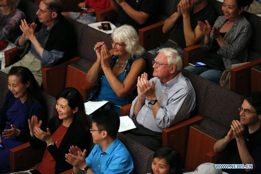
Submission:
[[206,161],[215,164],[229,164],[230,152],[223,151],[221,153],[215,153],[214,151],[206,153]]

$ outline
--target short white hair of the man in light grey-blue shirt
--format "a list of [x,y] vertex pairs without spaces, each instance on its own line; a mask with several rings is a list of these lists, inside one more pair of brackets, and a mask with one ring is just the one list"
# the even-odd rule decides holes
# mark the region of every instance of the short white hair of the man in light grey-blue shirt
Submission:
[[179,55],[179,52],[173,48],[162,48],[158,51],[163,51],[164,55],[167,56],[168,64],[175,64],[178,71],[183,67],[183,60]]

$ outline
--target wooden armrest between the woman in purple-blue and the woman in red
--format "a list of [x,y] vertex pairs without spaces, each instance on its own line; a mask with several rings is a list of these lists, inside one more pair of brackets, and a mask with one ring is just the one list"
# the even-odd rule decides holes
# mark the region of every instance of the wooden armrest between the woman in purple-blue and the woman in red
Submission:
[[10,171],[28,170],[28,168],[42,161],[45,146],[39,150],[33,150],[30,143],[25,143],[9,150]]

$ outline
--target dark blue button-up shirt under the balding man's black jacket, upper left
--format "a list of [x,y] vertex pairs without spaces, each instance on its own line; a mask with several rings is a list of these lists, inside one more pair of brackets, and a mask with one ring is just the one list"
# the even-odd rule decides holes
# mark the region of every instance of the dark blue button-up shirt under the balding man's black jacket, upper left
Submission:
[[[59,20],[59,19],[58,19]],[[58,21],[57,20],[57,21]],[[42,28],[39,30],[38,34],[36,35],[36,39],[37,41],[41,44],[41,46],[43,48],[45,48],[45,44],[49,38],[50,32],[52,30],[52,28],[57,24],[57,21],[55,22],[55,24],[53,24],[53,26],[51,28],[49,28],[47,30],[46,25],[42,25]],[[16,41],[15,41],[15,45],[19,47],[18,44],[18,40],[21,38],[22,36],[19,36]],[[20,48],[20,47],[19,47]],[[47,51],[44,49],[42,57],[38,54],[38,52],[36,51],[35,47],[33,46],[33,44],[30,45],[29,51],[39,60],[41,60],[41,64],[44,64],[46,66],[52,66],[55,63],[57,63],[64,55],[64,52],[59,51],[59,50],[51,50],[51,51]]]

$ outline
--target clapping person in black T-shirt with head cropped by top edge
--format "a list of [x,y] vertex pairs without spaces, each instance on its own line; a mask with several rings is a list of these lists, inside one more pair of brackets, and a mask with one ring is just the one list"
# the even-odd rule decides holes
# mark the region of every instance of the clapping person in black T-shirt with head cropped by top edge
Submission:
[[183,49],[200,42],[204,34],[200,31],[197,21],[208,20],[213,26],[217,15],[208,0],[181,0],[178,11],[164,21],[163,33],[170,32],[170,38],[165,44],[149,51],[157,55],[161,48],[174,48],[183,58]]

